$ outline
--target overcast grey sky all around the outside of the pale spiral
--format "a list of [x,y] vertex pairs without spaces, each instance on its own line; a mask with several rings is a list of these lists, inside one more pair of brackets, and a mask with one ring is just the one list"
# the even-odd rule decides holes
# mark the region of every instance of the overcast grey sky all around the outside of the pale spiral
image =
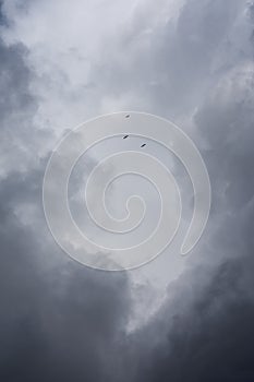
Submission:
[[[253,382],[253,1],[0,5],[0,380]],[[206,163],[210,217],[179,268],[92,270],[47,227],[52,148],[120,110],[170,119]]]

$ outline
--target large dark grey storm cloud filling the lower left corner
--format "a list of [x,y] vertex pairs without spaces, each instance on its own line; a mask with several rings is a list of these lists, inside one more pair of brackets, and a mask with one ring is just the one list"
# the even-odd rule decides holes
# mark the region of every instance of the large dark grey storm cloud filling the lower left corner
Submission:
[[[33,171],[1,183],[0,378],[104,381],[118,368],[128,279],[84,268],[47,240],[41,181]],[[16,211],[27,203],[38,206],[33,225]]]

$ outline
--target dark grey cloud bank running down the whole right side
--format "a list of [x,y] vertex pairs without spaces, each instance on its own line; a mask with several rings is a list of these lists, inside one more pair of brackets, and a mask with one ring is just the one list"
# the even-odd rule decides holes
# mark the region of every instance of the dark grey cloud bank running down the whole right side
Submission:
[[[140,360],[136,381],[254,381],[254,65],[247,24],[252,7],[246,5],[243,19],[246,50],[221,68],[194,117],[207,144],[203,155],[213,188],[209,237],[196,266],[190,265],[169,286],[164,307],[133,338],[132,351]],[[186,10],[180,21],[192,14]],[[204,27],[211,28],[213,12],[205,14],[207,19],[199,15],[206,20]],[[204,46],[209,47],[207,33],[204,36]]]

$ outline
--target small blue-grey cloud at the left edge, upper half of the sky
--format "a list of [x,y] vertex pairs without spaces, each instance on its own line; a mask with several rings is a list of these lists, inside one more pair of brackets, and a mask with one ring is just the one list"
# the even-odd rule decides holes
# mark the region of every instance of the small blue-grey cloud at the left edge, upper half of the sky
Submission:
[[36,129],[34,123],[38,106],[29,93],[31,73],[24,64],[25,55],[22,45],[7,48],[0,40],[0,176],[3,178],[10,171],[36,166],[40,151],[43,155],[52,136],[49,130]]

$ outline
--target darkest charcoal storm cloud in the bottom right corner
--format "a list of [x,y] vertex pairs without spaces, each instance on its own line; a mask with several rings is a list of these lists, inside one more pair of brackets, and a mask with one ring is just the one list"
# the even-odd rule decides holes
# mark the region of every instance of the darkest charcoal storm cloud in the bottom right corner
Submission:
[[[194,302],[186,290],[180,293],[174,313],[160,311],[162,324],[157,318],[160,326],[145,329],[150,342],[143,348],[136,381],[253,381],[253,258],[242,254],[221,265],[202,294],[201,285],[185,285],[195,294]],[[152,346],[161,330],[164,338]]]

